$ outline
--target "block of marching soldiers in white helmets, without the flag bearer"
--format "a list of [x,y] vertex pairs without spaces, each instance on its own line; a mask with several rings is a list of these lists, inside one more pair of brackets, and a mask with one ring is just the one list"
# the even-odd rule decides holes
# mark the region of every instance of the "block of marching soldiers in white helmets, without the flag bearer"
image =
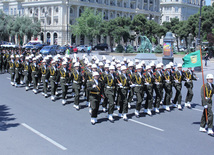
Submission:
[[[25,85],[26,91],[30,89],[33,83],[33,92],[38,93],[40,83],[43,83],[42,94],[48,97],[48,87],[51,88],[51,100],[56,100],[58,91],[62,89],[62,104],[67,102],[68,88],[72,85],[74,92],[74,108],[79,110],[80,91],[84,91],[89,112],[91,113],[91,123],[97,122],[97,112],[100,102],[102,103],[103,112],[108,111],[108,119],[114,122],[113,112],[116,107],[119,111],[119,117],[125,121],[128,120],[128,109],[131,108],[133,96],[136,95],[137,101],[135,106],[135,116],[139,117],[142,102],[145,98],[144,112],[152,115],[151,111],[159,113],[160,104],[163,108],[170,111],[170,105],[181,107],[181,89],[182,81],[185,81],[187,96],[185,106],[191,108],[193,97],[193,80],[197,80],[191,68],[182,71],[182,64],[155,65],[154,62],[145,65],[144,61],[136,60],[134,62],[124,58],[122,62],[114,57],[111,61],[106,57],[99,61],[93,56],[92,60],[84,55],[80,60],[75,55],[73,59],[68,55],[63,58],[60,55],[41,55],[19,56],[10,54],[8,66],[11,74],[11,85],[18,87],[20,84]],[[172,87],[175,88],[176,94],[172,99]],[[165,94],[164,91],[165,90]],[[155,100],[153,104],[153,92]],[[107,108],[108,105],[108,108]]]

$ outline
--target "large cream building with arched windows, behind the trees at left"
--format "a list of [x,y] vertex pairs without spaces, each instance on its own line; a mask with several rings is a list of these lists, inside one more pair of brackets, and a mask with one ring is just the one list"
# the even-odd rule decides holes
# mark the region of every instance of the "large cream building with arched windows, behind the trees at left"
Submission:
[[[50,44],[88,44],[85,36],[75,36],[68,33],[67,26],[74,24],[75,19],[81,15],[84,7],[90,7],[101,12],[103,20],[115,17],[133,17],[136,14],[145,14],[149,19],[160,22],[159,0],[0,0],[0,9],[6,14],[14,16],[29,16],[34,21],[40,20],[42,32],[38,36]],[[68,16],[67,16],[68,14]],[[99,36],[97,42],[109,43],[109,38]],[[26,37],[24,42],[26,42]]]

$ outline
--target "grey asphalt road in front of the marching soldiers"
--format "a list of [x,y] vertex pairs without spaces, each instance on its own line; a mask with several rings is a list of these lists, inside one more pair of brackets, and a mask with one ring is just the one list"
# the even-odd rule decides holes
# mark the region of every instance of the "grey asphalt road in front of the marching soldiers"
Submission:
[[[213,73],[213,69],[210,64],[205,74]],[[197,76],[200,79],[194,82],[192,109],[171,108],[171,112],[161,110],[152,116],[143,114],[142,109],[141,117],[136,118],[133,102],[128,122],[115,116],[116,121],[110,123],[100,107],[98,123],[92,126],[84,101],[80,111],[76,111],[71,94],[70,104],[62,106],[61,100],[52,102],[41,93],[35,95],[24,88],[12,87],[9,74],[0,74],[0,154],[211,155],[214,138],[198,131],[203,107],[201,73]],[[184,100],[185,87],[182,94]]]

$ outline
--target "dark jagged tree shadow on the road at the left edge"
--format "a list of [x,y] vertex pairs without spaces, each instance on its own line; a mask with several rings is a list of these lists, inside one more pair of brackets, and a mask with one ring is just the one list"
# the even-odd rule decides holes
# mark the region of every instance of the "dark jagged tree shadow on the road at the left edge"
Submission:
[[0,105],[0,131],[7,131],[9,128],[20,125],[19,123],[9,122],[16,119],[12,117],[14,114],[11,114],[9,110],[10,108],[8,108],[6,105]]

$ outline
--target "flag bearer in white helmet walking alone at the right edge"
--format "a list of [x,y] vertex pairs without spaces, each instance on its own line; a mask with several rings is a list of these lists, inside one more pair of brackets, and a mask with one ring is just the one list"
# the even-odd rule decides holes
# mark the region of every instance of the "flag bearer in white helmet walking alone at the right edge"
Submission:
[[213,75],[207,74],[206,76],[207,83],[201,87],[201,99],[202,106],[204,106],[204,111],[201,117],[201,124],[199,131],[207,132],[205,126],[208,126],[208,135],[214,137],[213,128],[213,112],[212,112],[212,96],[214,94],[214,85],[213,83]]

